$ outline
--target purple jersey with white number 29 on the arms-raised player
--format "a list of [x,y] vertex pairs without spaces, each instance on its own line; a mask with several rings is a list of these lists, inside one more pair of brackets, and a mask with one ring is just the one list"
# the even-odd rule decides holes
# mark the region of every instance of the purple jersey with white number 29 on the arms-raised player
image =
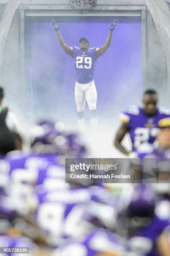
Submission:
[[86,84],[94,80],[94,68],[96,64],[96,52],[99,48],[89,48],[83,52],[79,47],[73,46],[73,61],[76,69],[76,81]]

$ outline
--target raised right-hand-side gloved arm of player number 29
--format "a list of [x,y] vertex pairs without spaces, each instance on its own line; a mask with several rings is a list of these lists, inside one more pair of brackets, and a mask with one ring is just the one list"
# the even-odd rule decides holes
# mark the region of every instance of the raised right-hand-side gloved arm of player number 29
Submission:
[[103,55],[105,53],[105,51],[107,51],[107,49],[109,48],[110,44],[111,44],[111,41],[112,41],[112,32],[114,30],[114,28],[117,26],[117,23],[118,23],[118,20],[114,20],[114,21],[110,21],[109,23],[109,35],[106,39],[106,43],[104,45],[102,45],[100,47],[100,49],[97,51],[97,58],[101,55]]

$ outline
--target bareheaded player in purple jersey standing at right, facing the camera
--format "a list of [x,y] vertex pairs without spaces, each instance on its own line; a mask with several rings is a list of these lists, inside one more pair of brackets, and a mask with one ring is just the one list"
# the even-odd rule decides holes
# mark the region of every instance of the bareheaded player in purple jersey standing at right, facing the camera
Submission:
[[132,151],[135,151],[142,143],[152,144],[159,132],[158,122],[162,118],[170,117],[170,110],[157,108],[158,96],[154,90],[147,90],[143,95],[143,108],[129,106],[120,114],[122,125],[120,126],[114,146],[123,154],[130,152],[122,145],[126,133],[129,133],[132,141]]

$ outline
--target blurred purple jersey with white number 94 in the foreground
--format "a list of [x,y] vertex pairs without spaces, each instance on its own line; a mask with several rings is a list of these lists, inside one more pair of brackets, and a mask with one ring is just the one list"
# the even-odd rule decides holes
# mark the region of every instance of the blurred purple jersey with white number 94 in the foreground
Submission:
[[116,202],[106,189],[81,184],[66,185],[59,188],[58,184],[56,187],[42,184],[37,187],[35,198],[31,197],[33,204],[30,200],[38,226],[46,232],[47,243],[54,247],[69,238],[82,237],[94,229],[95,224],[91,221],[94,217],[99,223],[105,224],[108,220],[105,208],[111,211],[109,221],[116,215]]

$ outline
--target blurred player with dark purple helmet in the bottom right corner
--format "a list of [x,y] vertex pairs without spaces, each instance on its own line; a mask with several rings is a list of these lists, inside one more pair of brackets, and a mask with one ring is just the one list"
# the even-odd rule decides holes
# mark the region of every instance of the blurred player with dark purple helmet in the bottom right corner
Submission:
[[134,252],[129,255],[170,255],[166,232],[170,225],[170,203],[166,200],[157,201],[149,184],[134,187],[118,223],[118,234],[129,238],[127,250]]

